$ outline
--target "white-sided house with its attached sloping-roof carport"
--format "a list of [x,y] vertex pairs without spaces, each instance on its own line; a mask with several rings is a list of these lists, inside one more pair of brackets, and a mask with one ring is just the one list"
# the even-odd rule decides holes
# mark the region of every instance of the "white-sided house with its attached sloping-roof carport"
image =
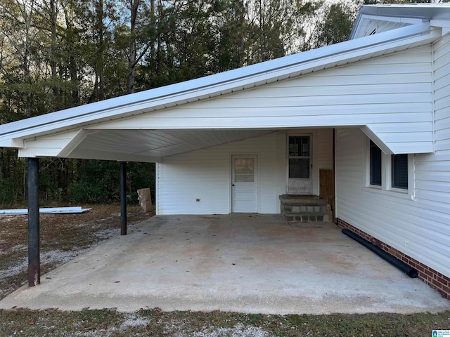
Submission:
[[0,126],[20,157],[157,163],[158,214],[335,216],[450,297],[450,4],[363,6],[349,41]]

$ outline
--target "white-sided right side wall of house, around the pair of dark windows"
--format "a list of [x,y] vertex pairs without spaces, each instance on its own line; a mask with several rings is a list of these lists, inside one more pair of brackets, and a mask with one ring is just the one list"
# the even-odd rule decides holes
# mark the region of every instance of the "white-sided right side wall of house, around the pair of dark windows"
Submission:
[[414,156],[414,200],[364,187],[366,136],[336,138],[338,218],[450,277],[450,36],[434,48],[435,154]]

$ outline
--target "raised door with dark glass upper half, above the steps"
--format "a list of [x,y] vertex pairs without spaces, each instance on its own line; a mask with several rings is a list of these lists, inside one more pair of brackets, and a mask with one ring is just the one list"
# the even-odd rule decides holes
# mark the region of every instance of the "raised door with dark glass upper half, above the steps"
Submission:
[[288,194],[311,194],[311,136],[288,137]]

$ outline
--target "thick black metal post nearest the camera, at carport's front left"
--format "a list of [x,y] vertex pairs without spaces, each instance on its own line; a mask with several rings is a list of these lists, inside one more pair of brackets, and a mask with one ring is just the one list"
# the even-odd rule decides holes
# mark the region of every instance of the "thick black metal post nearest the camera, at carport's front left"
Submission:
[[41,283],[39,260],[39,159],[27,158],[28,286]]

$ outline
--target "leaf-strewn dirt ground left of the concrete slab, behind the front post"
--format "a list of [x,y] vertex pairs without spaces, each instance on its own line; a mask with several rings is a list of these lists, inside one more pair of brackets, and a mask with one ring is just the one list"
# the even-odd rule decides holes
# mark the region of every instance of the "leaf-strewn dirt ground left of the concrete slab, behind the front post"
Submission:
[[[91,210],[41,215],[41,274],[120,234],[119,204],[82,207]],[[131,226],[154,214],[128,206],[127,222]],[[27,282],[27,244],[27,216],[0,216],[0,300]]]

